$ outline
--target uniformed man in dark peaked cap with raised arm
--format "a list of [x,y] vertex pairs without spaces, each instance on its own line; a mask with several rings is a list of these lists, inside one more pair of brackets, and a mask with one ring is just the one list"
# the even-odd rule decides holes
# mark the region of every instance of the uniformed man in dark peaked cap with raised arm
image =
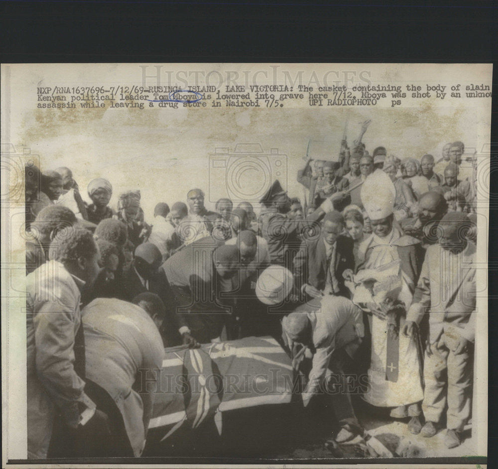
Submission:
[[289,268],[301,245],[300,241],[295,240],[294,234],[300,234],[307,223],[288,217],[289,198],[278,180],[275,180],[260,202],[265,207],[260,215],[261,234],[268,243],[271,262]]

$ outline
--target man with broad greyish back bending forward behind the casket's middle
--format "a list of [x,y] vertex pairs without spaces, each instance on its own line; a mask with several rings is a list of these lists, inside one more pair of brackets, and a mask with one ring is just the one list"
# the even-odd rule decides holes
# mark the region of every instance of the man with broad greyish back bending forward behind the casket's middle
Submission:
[[198,239],[162,265],[183,324],[180,334],[192,337],[194,346],[220,341],[231,311],[226,294],[237,290],[239,269],[254,259],[255,235],[244,231],[239,236],[248,236],[248,243],[220,245],[211,236]]

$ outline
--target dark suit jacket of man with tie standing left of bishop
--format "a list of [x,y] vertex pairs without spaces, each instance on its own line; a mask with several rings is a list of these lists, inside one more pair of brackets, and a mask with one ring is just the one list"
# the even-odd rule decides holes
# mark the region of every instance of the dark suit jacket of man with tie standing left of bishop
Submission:
[[[355,268],[353,253],[354,241],[350,237],[340,235],[336,240],[335,274],[339,282],[340,295],[349,297],[349,290],[344,285],[342,276],[346,269]],[[323,290],[327,281],[327,251],[323,236],[313,241],[303,241],[301,248],[294,258],[294,278],[296,287],[301,288],[305,283]]]

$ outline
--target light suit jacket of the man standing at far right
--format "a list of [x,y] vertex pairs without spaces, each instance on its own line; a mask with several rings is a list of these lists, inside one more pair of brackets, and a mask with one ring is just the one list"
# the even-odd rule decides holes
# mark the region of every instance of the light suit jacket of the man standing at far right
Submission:
[[475,339],[476,245],[454,255],[439,244],[427,248],[413,303],[406,319],[420,323],[429,311],[429,338],[433,344],[443,332]]

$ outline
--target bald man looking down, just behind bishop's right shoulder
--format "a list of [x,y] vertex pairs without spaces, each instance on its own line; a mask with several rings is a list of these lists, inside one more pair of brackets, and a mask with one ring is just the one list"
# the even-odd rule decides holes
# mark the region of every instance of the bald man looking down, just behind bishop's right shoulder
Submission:
[[418,206],[418,215],[402,220],[400,225],[404,234],[420,239],[422,246],[427,248],[438,242],[437,226],[446,215],[448,204],[440,192],[429,191],[420,197]]

